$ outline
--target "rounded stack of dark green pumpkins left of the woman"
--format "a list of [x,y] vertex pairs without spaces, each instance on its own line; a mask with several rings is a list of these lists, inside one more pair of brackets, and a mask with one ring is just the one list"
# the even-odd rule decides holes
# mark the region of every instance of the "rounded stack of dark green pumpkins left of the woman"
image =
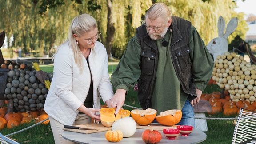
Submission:
[[[18,112],[36,111],[44,108],[48,89],[36,78],[36,70],[32,66],[20,64],[10,68],[4,98],[13,101]],[[52,80],[52,73],[47,74]]]

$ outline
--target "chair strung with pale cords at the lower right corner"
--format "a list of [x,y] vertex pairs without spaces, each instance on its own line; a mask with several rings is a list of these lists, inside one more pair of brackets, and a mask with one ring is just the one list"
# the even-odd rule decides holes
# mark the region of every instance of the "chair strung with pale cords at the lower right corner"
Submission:
[[240,109],[232,144],[256,144],[256,112]]

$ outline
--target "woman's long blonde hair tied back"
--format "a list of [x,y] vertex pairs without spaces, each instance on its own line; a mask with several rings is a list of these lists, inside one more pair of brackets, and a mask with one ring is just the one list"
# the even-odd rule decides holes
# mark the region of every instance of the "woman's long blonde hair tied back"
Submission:
[[[69,30],[69,36],[68,36],[69,46],[71,47],[74,53],[74,60],[75,60],[75,63],[78,65],[78,68],[80,69],[80,73],[82,72],[82,69],[84,67],[83,55],[78,44],[76,44],[76,39],[73,35],[76,34],[78,37],[80,37],[80,36],[83,36],[84,33],[90,32],[95,28],[97,28],[97,22],[92,16],[88,14],[82,14],[80,16],[76,16],[70,24],[70,27],[69,27],[70,30]],[[92,48],[92,51],[94,52],[93,48]],[[53,56],[53,59],[54,57],[55,56]]]

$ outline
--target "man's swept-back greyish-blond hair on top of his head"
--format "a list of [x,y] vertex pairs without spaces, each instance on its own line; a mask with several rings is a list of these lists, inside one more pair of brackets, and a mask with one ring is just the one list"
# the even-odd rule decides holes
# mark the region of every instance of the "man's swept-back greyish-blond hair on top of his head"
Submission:
[[172,12],[164,3],[155,3],[150,8],[145,15],[145,20],[148,18],[149,20],[156,20],[158,17],[163,18],[165,21],[171,19]]

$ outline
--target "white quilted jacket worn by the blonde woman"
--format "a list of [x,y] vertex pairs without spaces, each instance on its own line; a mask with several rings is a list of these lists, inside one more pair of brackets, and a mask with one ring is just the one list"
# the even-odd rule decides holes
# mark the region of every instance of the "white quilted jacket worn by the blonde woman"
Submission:
[[[94,53],[95,52],[95,53]],[[94,108],[100,108],[100,96],[103,101],[113,96],[112,84],[108,75],[108,55],[104,45],[96,41],[94,52],[89,55],[89,65],[93,81]],[[79,111],[77,110],[90,88],[90,70],[83,57],[84,69],[80,73],[74,60],[69,41],[60,45],[54,59],[53,78],[47,94],[44,110],[49,116],[62,124],[72,125]]]

